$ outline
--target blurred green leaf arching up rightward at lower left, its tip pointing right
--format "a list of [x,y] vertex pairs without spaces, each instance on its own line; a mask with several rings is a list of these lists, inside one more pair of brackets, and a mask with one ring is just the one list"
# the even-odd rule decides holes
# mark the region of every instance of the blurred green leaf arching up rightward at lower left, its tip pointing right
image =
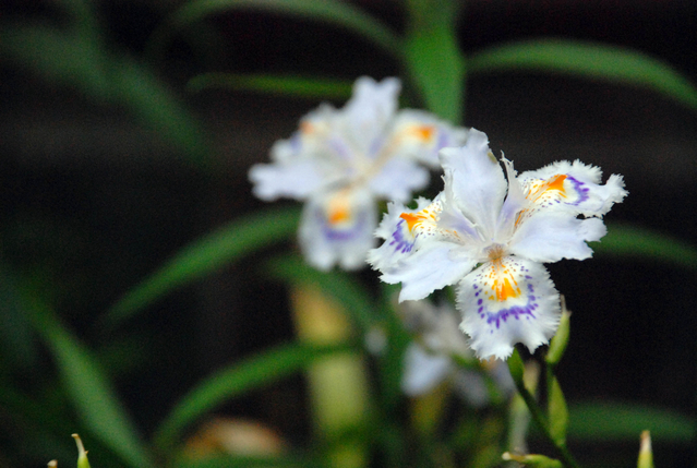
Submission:
[[276,382],[327,356],[352,350],[348,345],[293,344],[235,363],[207,377],[177,404],[157,430],[155,444],[167,452],[189,424],[228,399]]

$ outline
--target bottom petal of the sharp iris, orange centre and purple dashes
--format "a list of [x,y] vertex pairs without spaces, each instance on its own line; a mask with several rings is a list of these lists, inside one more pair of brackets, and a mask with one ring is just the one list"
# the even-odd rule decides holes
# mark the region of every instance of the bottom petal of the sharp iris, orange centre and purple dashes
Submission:
[[558,325],[560,297],[544,266],[505,256],[467,275],[458,288],[460,328],[480,359],[506,359],[516,343],[532,352]]

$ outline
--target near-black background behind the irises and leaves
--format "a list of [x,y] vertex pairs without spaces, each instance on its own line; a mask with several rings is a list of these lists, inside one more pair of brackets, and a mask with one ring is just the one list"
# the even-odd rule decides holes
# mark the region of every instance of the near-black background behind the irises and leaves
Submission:
[[[149,35],[177,3],[96,5],[109,47],[143,57]],[[399,2],[356,4],[404,29]],[[525,38],[603,41],[660,58],[697,83],[696,17],[697,3],[687,1],[480,0],[464,9],[459,40],[466,53]],[[20,19],[60,23],[61,14],[52,2],[0,7],[0,20]],[[250,193],[249,167],[267,160],[274,141],[288,137],[319,104],[219,89],[190,94],[187,81],[209,71],[347,80],[401,73],[371,44],[317,22],[235,12],[205,26],[217,38],[211,47],[178,38],[153,67],[204,122],[214,173],[185,163],[125,109],[0,61],[1,254],[47,285],[61,315],[91,346],[128,345],[128,365],[112,370],[145,432],[202,376],[292,338],[283,287],[260,274],[263,255],[175,292],[108,336],[98,325],[100,313],[179,248],[264,206]],[[465,123],[486,132],[492,149],[505,152],[518,170],[579,158],[605,175],[624,175],[629,196],[609,223],[695,243],[695,110],[637,87],[520,72],[470,76],[466,112]],[[694,269],[608,255],[549,268],[574,312],[560,369],[567,398],[694,415]],[[293,442],[310,427],[300,377],[227,409],[265,420]],[[598,449],[605,448],[614,447]],[[684,446],[654,443],[654,451],[657,466],[695,460]]]

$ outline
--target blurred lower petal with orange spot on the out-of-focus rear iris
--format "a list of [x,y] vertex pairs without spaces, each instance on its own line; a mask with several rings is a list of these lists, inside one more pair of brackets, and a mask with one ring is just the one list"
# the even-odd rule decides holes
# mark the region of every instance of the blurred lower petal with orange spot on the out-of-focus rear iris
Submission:
[[366,191],[343,189],[312,196],[300,220],[300,247],[308,263],[323,271],[339,264],[345,269],[365,265],[375,245],[375,203]]

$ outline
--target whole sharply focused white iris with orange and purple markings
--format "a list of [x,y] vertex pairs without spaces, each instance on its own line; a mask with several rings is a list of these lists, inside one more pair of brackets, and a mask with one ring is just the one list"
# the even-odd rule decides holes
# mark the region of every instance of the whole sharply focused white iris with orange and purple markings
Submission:
[[[484,133],[440,153],[445,188],[416,211],[388,205],[369,262],[386,283],[401,283],[399,300],[423,299],[458,285],[460,328],[480,359],[505,359],[516,343],[546,344],[560,321],[560,295],[542,263],[592,255],[600,219],[627,192],[621,176],[579,161],[516,175],[489,149]],[[506,180],[507,179],[507,180]],[[580,216],[580,218],[579,218]]]

